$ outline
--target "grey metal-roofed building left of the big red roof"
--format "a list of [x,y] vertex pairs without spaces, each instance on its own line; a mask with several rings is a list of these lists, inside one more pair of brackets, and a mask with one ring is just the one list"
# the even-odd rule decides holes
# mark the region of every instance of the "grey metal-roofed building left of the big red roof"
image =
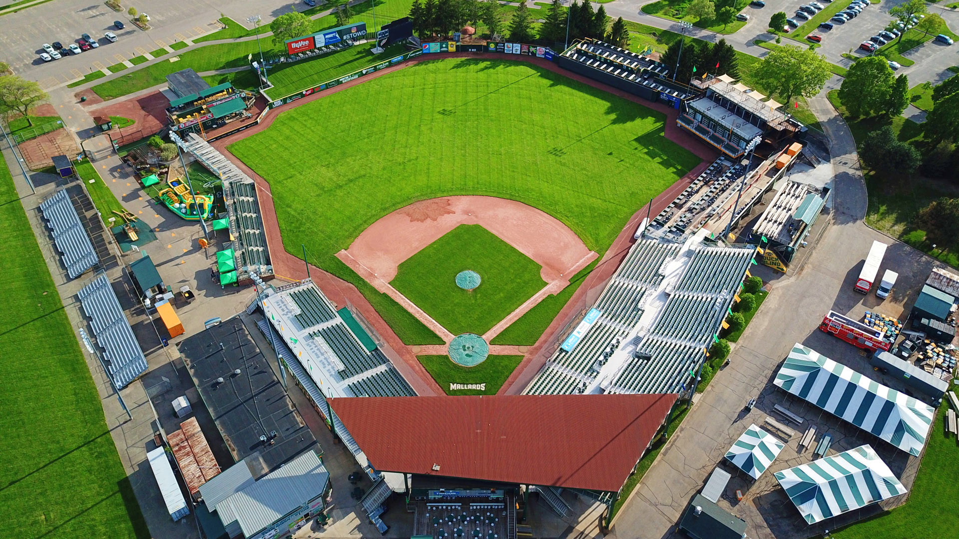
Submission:
[[308,451],[259,480],[243,483],[215,505],[216,512],[230,537],[271,537],[273,529],[286,531],[304,514],[322,509],[329,483],[323,463]]

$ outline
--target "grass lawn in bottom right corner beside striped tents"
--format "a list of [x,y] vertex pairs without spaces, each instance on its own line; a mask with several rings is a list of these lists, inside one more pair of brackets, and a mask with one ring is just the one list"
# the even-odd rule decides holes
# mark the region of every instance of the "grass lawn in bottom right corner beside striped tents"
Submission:
[[[952,390],[957,387],[953,386]],[[959,496],[959,447],[953,435],[945,434],[943,421],[949,405],[944,400],[929,431],[925,456],[909,493],[909,501],[867,521],[833,530],[835,539],[883,537],[955,537],[959,519],[944,500]],[[949,530],[952,531],[949,531]],[[917,530],[922,530],[917,532]]]

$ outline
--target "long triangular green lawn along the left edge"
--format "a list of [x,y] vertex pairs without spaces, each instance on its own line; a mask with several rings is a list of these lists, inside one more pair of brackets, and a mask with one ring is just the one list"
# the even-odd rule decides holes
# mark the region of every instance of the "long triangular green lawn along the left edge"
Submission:
[[150,537],[77,334],[0,157],[0,537]]

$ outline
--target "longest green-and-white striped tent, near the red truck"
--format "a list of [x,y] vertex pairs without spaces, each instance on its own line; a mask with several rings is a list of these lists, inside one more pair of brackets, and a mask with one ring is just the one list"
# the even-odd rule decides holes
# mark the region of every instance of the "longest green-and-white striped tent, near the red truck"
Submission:
[[925,445],[935,410],[796,343],[773,381],[909,455]]

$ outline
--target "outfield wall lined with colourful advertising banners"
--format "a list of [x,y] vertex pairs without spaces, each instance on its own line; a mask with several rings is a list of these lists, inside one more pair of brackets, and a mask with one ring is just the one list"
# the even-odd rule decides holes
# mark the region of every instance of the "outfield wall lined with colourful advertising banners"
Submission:
[[[456,52],[471,52],[471,53],[478,53],[478,54],[493,53],[493,54],[507,54],[507,55],[526,55],[526,56],[533,56],[538,58],[545,58],[550,61],[553,59],[553,55],[555,54],[549,47],[528,45],[526,43],[507,43],[507,42],[499,42],[499,41],[490,41],[487,43],[464,44],[464,43],[457,43],[456,41],[433,41],[433,42],[423,43],[422,48],[418,51],[410,51],[408,53],[404,53],[402,55],[393,57],[391,59],[385,59],[383,61],[364,67],[363,69],[354,71],[353,73],[349,73],[347,75],[343,75],[342,77],[338,77],[337,79],[332,79],[327,82],[322,82],[314,86],[306,87],[306,88],[303,88],[302,90],[298,90],[292,94],[289,94],[283,97],[278,97],[274,99],[273,97],[269,96],[269,94],[267,93],[269,91],[269,88],[260,90],[260,92],[269,102],[269,107],[276,108],[277,106],[286,105],[288,103],[296,101],[297,99],[304,98],[316,92],[321,92],[323,90],[330,89],[344,82],[350,82],[350,81],[353,81],[354,79],[359,79],[360,77],[369,75],[370,73],[375,73],[377,71],[380,71],[381,69],[386,69],[387,67],[391,65],[396,65],[397,63],[400,63],[402,61],[405,61],[411,58],[418,57],[420,55],[456,53]],[[558,55],[556,56],[558,57]]]

